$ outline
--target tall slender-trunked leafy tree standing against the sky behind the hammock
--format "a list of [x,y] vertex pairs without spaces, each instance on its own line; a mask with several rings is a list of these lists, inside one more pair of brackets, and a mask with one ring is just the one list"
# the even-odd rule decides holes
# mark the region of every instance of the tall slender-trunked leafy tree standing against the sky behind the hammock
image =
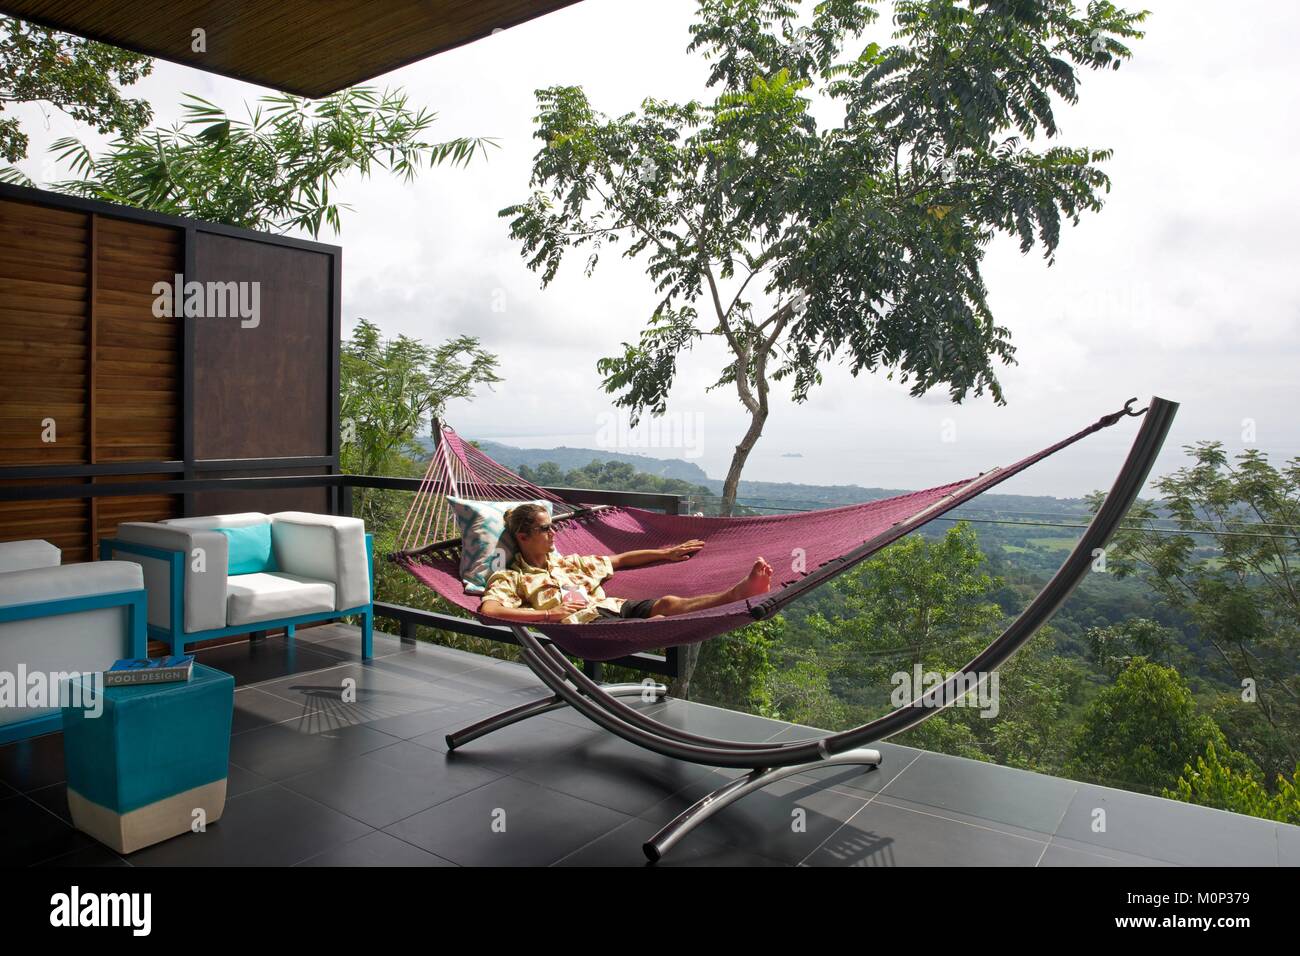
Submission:
[[[1054,138],[1053,99],[1078,100],[1080,70],[1118,66],[1145,13],[1104,0],[900,0],[897,43],[844,47],[876,20],[855,0],[701,0],[689,52],[712,61],[712,103],[646,99],[598,113],[581,87],[537,92],[529,199],[511,217],[545,287],[569,250],[649,254],[656,304],[636,343],[598,371],[633,421],[663,414],[684,351],[706,338],[728,359],[711,388],[749,415],[723,488],[731,514],[762,434],[774,381],[802,402],[822,365],[887,371],[913,394],[1002,392],[1013,360],[980,263],[1008,234],[1050,261],[1062,221],[1101,208],[1109,152],[1028,147]],[[811,95],[842,107],[819,126]],[[703,303],[701,304],[701,300]]]

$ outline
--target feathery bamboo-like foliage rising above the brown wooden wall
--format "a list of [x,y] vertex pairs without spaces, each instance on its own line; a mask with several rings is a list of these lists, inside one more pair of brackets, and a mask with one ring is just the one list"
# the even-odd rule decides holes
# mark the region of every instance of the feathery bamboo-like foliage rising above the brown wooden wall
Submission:
[[64,138],[51,146],[78,177],[53,183],[74,195],[139,206],[246,229],[318,235],[328,224],[339,232],[332,195],[348,172],[368,176],[376,166],[404,181],[424,164],[468,164],[486,155],[490,139],[425,142],[436,113],[407,108],[402,91],[377,94],[351,87],[304,100],[264,96],[246,120],[198,96],[182,103],[185,118],[172,129],[122,137],[108,152]]

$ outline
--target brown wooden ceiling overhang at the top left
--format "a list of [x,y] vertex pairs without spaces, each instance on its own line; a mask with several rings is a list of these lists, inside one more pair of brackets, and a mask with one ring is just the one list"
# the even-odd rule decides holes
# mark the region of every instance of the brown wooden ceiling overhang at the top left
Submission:
[[0,0],[0,13],[316,98],[576,1]]

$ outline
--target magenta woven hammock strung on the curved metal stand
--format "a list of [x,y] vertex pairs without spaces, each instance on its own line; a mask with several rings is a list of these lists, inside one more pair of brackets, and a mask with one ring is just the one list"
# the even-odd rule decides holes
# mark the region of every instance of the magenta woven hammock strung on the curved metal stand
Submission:
[[[439,441],[416,499],[389,555],[447,601],[488,623],[506,623],[478,613],[480,597],[464,593],[460,580],[460,540],[446,496],[480,501],[546,498],[554,502],[555,548],[562,554],[619,554],[663,548],[701,538],[705,548],[681,562],[663,562],[618,571],[602,587],[611,597],[647,598],[723,591],[740,580],[755,557],[774,567],[772,589],[754,598],[670,618],[593,620],[586,624],[532,624],[566,653],[588,661],[612,661],[627,654],[694,644],[764,618],[904,535],[970,501],[1031,464],[1113,425],[1131,410],[1118,412],[1019,462],[972,479],[927,488],[862,505],[801,514],[696,518],[666,515],[636,507],[582,507],[560,501],[498,464],[450,427]],[[1145,411],[1145,410],[1144,410]],[[421,541],[442,537],[432,545]]]

